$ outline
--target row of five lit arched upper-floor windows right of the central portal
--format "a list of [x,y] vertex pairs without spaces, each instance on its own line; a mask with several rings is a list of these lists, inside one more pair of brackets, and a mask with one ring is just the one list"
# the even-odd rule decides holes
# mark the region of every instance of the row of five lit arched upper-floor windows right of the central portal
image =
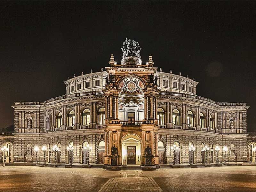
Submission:
[[[159,125],[164,125],[165,124],[165,119],[164,119],[164,109],[158,108],[157,109],[157,119],[158,119],[158,124]],[[202,128],[204,128],[204,114],[200,113],[200,125]],[[187,124],[190,127],[195,126],[195,117],[194,114],[191,110],[188,110],[187,114]],[[178,109],[173,109],[172,110],[172,123],[173,125],[180,125],[180,111]],[[213,129],[213,118],[212,115],[210,115],[210,127]]]

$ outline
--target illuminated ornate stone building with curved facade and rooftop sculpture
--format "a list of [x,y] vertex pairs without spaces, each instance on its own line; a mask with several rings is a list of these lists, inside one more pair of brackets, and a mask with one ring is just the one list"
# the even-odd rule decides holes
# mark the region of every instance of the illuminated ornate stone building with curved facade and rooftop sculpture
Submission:
[[[13,136],[1,137],[11,145],[10,162],[35,161],[34,146],[47,147],[46,162],[68,163],[72,144],[73,163],[86,164],[84,146],[89,144],[91,164],[111,164],[112,147],[117,164],[145,165],[145,149],[151,148],[152,164],[171,164],[175,143],[176,163],[189,163],[189,145],[195,146],[194,163],[215,162],[214,148],[227,146],[227,161],[251,161],[248,152],[246,103],[216,102],[196,95],[198,82],[157,71],[152,56],[142,64],[138,43],[126,40],[118,64],[111,55],[103,71],[65,81],[66,94],[43,102],[15,102]],[[8,140],[7,140],[8,139]],[[250,141],[251,142],[251,141]],[[250,158],[249,158],[250,159]]]

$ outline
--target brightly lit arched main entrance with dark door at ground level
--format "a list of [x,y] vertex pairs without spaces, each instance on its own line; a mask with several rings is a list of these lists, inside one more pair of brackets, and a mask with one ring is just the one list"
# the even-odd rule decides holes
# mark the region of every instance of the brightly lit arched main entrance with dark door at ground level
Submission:
[[122,165],[141,164],[141,139],[137,134],[130,133],[122,138]]

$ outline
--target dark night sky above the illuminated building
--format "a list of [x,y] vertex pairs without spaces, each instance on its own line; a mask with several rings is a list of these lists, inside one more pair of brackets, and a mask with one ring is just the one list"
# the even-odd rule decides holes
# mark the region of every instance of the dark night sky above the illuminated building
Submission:
[[63,81],[121,59],[125,37],[164,72],[195,77],[197,94],[246,102],[256,131],[256,2],[0,2],[0,128],[14,101],[65,94]]

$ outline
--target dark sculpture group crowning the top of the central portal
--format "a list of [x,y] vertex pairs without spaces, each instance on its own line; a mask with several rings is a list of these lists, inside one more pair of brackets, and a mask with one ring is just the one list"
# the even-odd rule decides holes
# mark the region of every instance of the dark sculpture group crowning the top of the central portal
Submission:
[[137,41],[126,38],[121,49],[123,51],[123,58],[127,56],[135,56],[140,58],[141,48]]

